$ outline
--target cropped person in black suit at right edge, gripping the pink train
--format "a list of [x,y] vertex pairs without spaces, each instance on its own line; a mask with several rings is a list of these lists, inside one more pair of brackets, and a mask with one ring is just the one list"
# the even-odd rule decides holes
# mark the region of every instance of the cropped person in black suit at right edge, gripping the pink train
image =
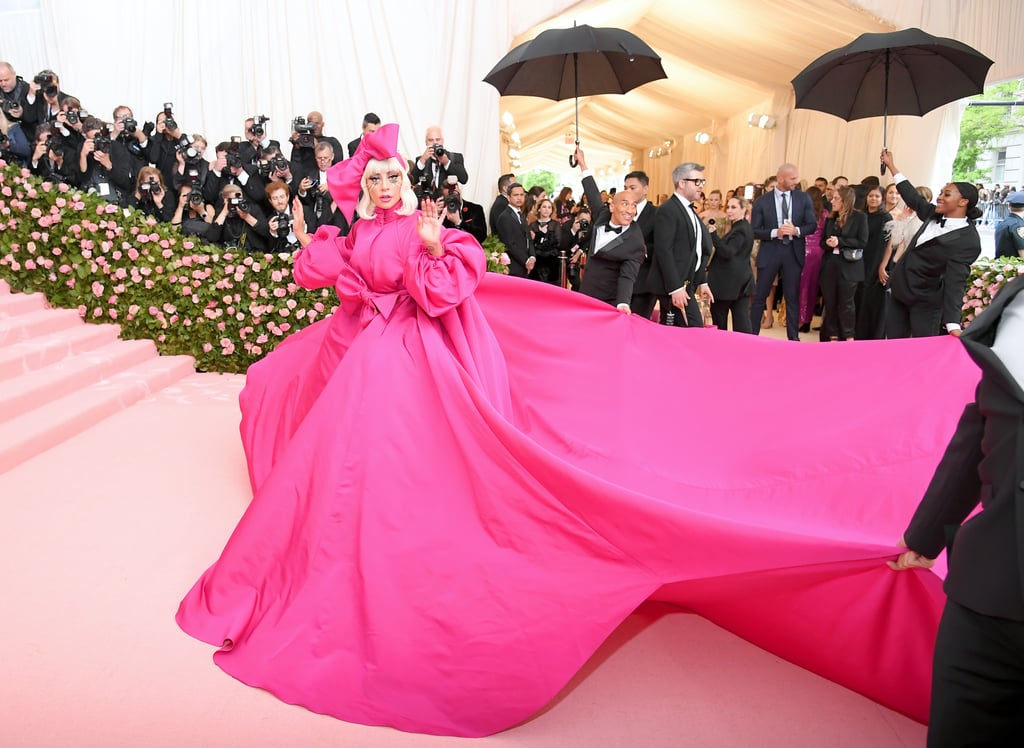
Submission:
[[[929,746],[1024,736],[1024,277],[961,340],[981,368],[956,431],[889,566],[929,568],[948,546],[932,668]],[[978,503],[982,510],[964,522]],[[963,527],[961,523],[964,523]]]

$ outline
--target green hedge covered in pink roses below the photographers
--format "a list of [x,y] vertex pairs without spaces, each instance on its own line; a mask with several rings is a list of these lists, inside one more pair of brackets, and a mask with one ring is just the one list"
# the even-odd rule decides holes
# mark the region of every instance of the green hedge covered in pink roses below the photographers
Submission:
[[284,338],[331,315],[334,289],[292,280],[291,255],[201,244],[166,223],[0,162],[0,278],[46,294],[123,338],[244,372]]

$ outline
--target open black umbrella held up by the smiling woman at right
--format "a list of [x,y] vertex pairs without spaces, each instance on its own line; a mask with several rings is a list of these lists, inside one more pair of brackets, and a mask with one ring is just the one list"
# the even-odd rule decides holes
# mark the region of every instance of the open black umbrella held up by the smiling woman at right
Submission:
[[921,117],[981,93],[991,66],[984,54],[955,39],[904,29],[861,34],[822,54],[793,79],[793,89],[797,109],[847,122],[883,117],[883,144],[888,147],[889,115]]

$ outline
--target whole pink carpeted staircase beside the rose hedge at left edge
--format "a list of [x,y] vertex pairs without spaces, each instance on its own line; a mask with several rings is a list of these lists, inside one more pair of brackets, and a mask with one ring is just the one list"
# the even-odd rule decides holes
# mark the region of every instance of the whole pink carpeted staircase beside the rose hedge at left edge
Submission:
[[0,473],[195,373],[119,332],[0,281]]

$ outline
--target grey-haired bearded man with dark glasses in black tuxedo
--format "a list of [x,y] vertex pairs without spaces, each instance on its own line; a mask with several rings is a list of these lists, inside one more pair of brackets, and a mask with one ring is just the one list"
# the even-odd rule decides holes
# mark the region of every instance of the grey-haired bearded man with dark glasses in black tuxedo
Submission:
[[[654,214],[654,259],[647,276],[647,291],[657,296],[663,325],[703,327],[699,293],[714,301],[707,282],[711,238],[696,214],[693,201],[708,181],[703,166],[687,162],[672,170],[675,193]],[[589,200],[589,198],[588,198]]]

